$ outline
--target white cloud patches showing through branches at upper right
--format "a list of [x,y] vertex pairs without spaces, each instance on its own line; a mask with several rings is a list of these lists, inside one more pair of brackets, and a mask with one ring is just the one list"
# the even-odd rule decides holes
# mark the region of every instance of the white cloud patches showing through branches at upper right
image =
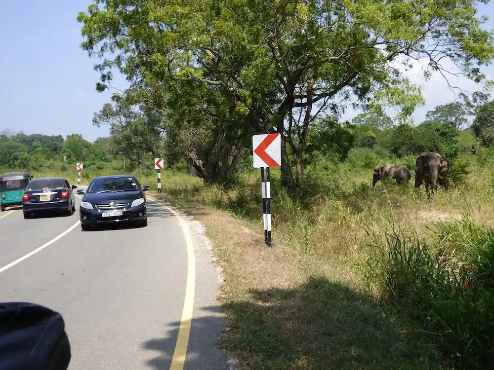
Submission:
[[[448,104],[459,99],[458,94],[463,90],[466,93],[474,93],[475,91],[480,91],[483,89],[481,84],[478,84],[463,75],[453,75],[444,73],[447,80],[440,72],[434,72],[429,80],[425,80],[424,71],[427,69],[427,62],[425,59],[421,61],[411,60],[412,68],[408,71],[405,70],[402,62],[404,58],[397,58],[392,65],[397,67],[402,73],[409,77],[410,80],[422,88],[422,96],[425,100],[425,105],[418,107],[412,117],[415,124],[419,124],[425,119],[425,114],[427,111],[433,110],[438,105]],[[458,69],[454,66],[451,60],[443,59],[441,67],[451,73],[456,74]],[[484,68],[483,72],[487,75],[488,79],[492,79],[492,74],[494,74],[494,68]],[[449,84],[453,87],[450,88]],[[342,115],[341,120],[351,120],[361,111],[355,111],[351,107],[347,108],[345,113]],[[392,107],[386,108],[386,113],[390,117],[394,117],[397,114],[397,110]]]

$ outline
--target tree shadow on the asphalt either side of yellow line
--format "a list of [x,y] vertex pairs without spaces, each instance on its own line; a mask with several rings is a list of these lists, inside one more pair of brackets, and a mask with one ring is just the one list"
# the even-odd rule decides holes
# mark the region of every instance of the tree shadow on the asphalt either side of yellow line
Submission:
[[[200,310],[205,311],[205,314],[192,321],[184,369],[228,370],[228,355],[215,346],[216,338],[224,328],[224,320],[219,315],[220,308],[211,306],[202,307]],[[180,322],[170,323],[166,327],[169,329],[163,338],[150,339],[142,344],[143,349],[157,353],[155,358],[146,361],[151,369],[170,368]]]

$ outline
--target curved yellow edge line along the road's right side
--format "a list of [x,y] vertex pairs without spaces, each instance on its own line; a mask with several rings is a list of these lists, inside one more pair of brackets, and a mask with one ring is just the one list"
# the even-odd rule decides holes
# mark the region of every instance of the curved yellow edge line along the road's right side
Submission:
[[173,357],[170,364],[170,370],[183,370],[185,366],[185,358],[187,356],[187,347],[189,345],[189,336],[192,327],[192,315],[194,310],[194,289],[196,283],[196,258],[194,256],[194,244],[192,243],[192,237],[187,222],[174,209],[154,199],[148,199],[162,206],[165,210],[170,211],[177,218],[185,237],[185,245],[187,247],[187,285],[185,286],[182,318],[180,320],[175,350],[173,351]]

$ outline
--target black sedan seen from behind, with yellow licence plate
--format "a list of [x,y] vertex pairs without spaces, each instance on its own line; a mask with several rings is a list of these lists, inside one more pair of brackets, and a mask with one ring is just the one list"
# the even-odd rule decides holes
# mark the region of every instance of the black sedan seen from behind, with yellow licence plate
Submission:
[[24,218],[45,211],[62,211],[67,216],[76,211],[73,189],[63,177],[47,177],[31,180],[22,194]]

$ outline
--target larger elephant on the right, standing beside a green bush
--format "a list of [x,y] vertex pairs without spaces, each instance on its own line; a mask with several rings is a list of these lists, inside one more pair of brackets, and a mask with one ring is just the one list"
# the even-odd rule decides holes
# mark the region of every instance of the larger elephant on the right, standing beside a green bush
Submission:
[[[432,190],[432,194],[434,194],[437,189],[439,174],[449,170],[451,170],[450,162],[441,154],[431,151],[421,155],[415,161],[415,189],[418,189],[423,182],[427,197],[430,198],[429,191]],[[447,187],[448,184],[449,182],[446,180],[444,185]]]

